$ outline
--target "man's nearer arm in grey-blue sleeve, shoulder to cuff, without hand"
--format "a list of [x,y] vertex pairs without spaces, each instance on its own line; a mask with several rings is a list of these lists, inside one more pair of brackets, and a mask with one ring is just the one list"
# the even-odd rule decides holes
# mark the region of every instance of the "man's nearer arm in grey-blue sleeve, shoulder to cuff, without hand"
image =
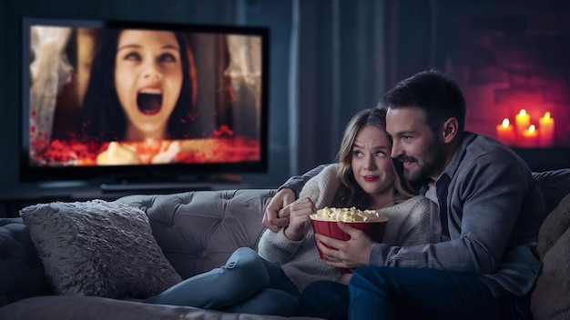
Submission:
[[[497,157],[478,157],[453,180],[450,207],[451,241],[431,245],[390,247],[374,244],[371,265],[433,267],[470,275],[493,273],[513,245],[532,242],[543,215],[544,200],[524,168]],[[452,191],[450,191],[452,192]],[[521,219],[521,220],[520,220]],[[519,243],[509,243],[517,239]]]

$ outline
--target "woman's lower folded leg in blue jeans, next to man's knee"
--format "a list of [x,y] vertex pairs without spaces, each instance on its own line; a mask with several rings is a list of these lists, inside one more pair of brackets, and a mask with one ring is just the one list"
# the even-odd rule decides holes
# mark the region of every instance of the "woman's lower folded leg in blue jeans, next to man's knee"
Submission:
[[253,315],[295,315],[299,298],[279,289],[265,288],[238,305],[222,309],[224,312]]

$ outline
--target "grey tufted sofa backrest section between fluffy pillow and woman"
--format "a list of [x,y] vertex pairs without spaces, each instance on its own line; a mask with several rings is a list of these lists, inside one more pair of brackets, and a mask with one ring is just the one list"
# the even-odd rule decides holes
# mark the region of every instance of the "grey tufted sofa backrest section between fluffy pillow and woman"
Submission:
[[226,263],[237,248],[257,250],[261,218],[274,190],[193,191],[127,195],[117,200],[141,208],[164,255],[182,278]]

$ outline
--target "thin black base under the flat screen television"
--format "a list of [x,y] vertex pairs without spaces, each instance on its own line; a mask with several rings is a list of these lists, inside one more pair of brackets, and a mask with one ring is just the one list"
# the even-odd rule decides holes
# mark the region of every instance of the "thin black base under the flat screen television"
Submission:
[[134,194],[170,194],[187,191],[211,190],[212,186],[200,183],[169,182],[169,183],[115,183],[101,184],[103,193],[134,193]]

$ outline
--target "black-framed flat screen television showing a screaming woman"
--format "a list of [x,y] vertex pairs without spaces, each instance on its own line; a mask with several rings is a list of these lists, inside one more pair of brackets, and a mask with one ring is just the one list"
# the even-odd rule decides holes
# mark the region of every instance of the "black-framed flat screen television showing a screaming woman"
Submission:
[[23,182],[268,169],[269,28],[22,18]]

